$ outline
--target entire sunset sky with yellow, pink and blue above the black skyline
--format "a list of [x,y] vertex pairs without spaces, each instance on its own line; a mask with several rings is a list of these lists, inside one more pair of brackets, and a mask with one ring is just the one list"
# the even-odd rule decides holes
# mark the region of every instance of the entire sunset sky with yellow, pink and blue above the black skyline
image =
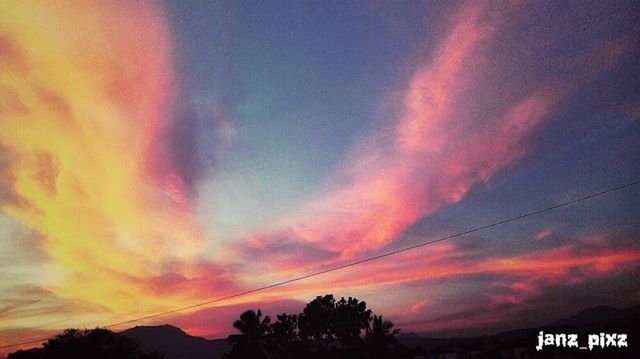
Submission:
[[[0,2],[0,346],[639,180],[639,17],[620,1]],[[246,309],[328,293],[431,336],[637,305],[639,199],[112,329],[222,338]]]

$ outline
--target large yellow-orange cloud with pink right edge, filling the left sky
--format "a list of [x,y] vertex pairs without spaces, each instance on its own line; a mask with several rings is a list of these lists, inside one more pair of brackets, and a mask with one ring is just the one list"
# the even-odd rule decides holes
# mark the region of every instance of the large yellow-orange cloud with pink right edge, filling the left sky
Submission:
[[174,92],[163,11],[21,1],[0,13],[2,211],[43,237],[43,286],[120,314],[233,290],[200,264],[204,239],[161,156]]

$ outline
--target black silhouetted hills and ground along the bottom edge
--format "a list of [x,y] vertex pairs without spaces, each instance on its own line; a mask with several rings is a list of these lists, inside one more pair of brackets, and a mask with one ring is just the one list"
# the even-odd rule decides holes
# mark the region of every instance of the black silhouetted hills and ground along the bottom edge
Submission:
[[[246,312],[243,313],[245,314]],[[265,324],[263,322],[266,318],[244,319],[257,319],[258,324]],[[273,325],[276,323],[278,322]],[[384,321],[377,324],[384,324]],[[605,335],[599,336],[600,333]],[[267,335],[265,339],[274,335],[273,331],[263,334]],[[234,336],[226,340],[207,340],[190,336],[170,325],[135,327],[121,333],[105,329],[68,330],[49,340],[42,348],[20,350],[10,354],[8,358],[637,358],[636,353],[640,352],[640,307],[589,308],[570,318],[539,328],[519,329],[475,338],[425,338],[414,333],[398,334],[397,330],[387,330],[386,334],[390,341],[379,347],[372,346],[376,343],[365,340],[365,332],[364,339],[355,340],[353,345],[327,338],[324,342],[293,341],[287,346],[280,346],[282,350],[278,350],[277,346],[265,340],[265,350],[257,353],[237,350],[238,340],[247,339],[242,335],[236,336],[235,341]],[[548,334],[553,334],[553,344],[550,337],[546,336]],[[565,336],[558,336],[559,341],[556,343],[555,334],[575,334],[579,347],[568,347],[567,340],[564,340],[563,347]],[[590,334],[597,334],[597,340],[596,337],[591,338],[591,349]],[[617,336],[614,337],[612,334]],[[626,340],[622,341],[619,334],[626,334]],[[318,338],[322,339],[321,336]],[[544,345],[544,339],[547,339],[547,345]],[[541,350],[536,349],[539,345]]]

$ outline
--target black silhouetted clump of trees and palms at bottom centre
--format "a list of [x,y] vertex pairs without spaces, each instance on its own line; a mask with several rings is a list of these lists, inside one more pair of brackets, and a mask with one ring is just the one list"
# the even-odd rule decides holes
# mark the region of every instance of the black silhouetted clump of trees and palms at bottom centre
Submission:
[[393,323],[351,297],[318,296],[302,313],[277,315],[273,323],[259,309],[248,310],[233,326],[239,334],[228,337],[233,347],[224,359],[413,357],[396,342]]

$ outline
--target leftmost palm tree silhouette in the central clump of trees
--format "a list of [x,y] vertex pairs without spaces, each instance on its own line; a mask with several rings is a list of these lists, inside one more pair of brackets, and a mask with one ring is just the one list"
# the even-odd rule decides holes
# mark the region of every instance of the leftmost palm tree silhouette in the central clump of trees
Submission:
[[271,318],[261,319],[262,312],[258,309],[247,310],[240,315],[240,319],[233,323],[240,334],[232,334],[227,341],[233,344],[231,356],[234,358],[267,358],[265,346],[267,336],[271,333]]

